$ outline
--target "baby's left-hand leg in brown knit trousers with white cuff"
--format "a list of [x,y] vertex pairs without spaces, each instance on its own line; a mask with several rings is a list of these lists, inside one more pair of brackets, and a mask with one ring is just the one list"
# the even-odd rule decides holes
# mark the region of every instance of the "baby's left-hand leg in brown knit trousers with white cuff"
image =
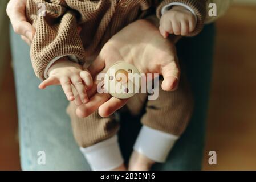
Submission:
[[78,118],[76,105],[70,102],[74,137],[92,170],[125,170],[117,141],[119,123],[113,117],[101,118],[97,111],[86,118]]

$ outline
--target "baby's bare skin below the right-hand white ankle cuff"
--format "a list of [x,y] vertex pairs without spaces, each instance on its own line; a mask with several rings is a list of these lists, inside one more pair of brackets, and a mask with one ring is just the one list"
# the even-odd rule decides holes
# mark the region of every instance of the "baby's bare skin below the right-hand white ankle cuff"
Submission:
[[129,171],[149,171],[155,161],[147,158],[147,156],[133,151],[129,160]]

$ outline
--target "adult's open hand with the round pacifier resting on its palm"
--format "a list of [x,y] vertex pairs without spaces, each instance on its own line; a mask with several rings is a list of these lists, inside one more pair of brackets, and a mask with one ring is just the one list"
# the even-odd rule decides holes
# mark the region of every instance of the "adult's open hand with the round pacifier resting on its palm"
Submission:
[[[99,56],[88,68],[92,76],[107,72],[116,61],[135,65],[141,73],[159,73],[164,77],[162,89],[175,90],[180,69],[174,43],[162,38],[158,28],[147,20],[137,20],[113,36],[101,49]],[[90,101],[82,104],[76,97],[78,117],[87,117],[99,109],[101,117],[108,117],[123,107],[128,100],[120,100],[110,94],[97,93],[97,83],[88,92]]]

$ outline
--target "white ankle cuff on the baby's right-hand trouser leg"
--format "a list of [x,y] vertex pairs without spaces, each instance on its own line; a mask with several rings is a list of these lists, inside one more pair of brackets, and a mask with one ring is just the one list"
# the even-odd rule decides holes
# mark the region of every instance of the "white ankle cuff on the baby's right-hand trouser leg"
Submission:
[[178,136],[143,126],[133,150],[155,162],[165,162]]

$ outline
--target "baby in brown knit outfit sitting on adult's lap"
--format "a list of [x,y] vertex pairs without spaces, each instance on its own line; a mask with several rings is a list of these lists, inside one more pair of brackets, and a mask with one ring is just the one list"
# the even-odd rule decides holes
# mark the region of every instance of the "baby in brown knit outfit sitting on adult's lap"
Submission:
[[[204,24],[205,3],[205,0],[28,0],[27,17],[36,27],[31,60],[36,75],[44,80],[39,88],[60,84],[67,99],[74,101],[73,85],[81,101],[76,105],[86,104],[90,100],[86,90],[92,88],[93,81],[84,68],[121,28],[153,14],[156,9],[164,38],[169,34],[195,36]],[[45,9],[43,16],[38,14],[38,7]],[[157,100],[146,100],[144,94],[136,94],[127,105],[131,113],[139,113],[144,105],[146,110],[133,147],[130,170],[148,170],[155,162],[165,162],[192,113],[192,96],[185,78],[181,77],[175,92],[164,92],[161,82],[162,78]],[[76,142],[91,168],[125,170],[117,142],[119,123],[114,117],[101,118],[97,111],[78,118],[76,105],[70,102],[67,112]]]

